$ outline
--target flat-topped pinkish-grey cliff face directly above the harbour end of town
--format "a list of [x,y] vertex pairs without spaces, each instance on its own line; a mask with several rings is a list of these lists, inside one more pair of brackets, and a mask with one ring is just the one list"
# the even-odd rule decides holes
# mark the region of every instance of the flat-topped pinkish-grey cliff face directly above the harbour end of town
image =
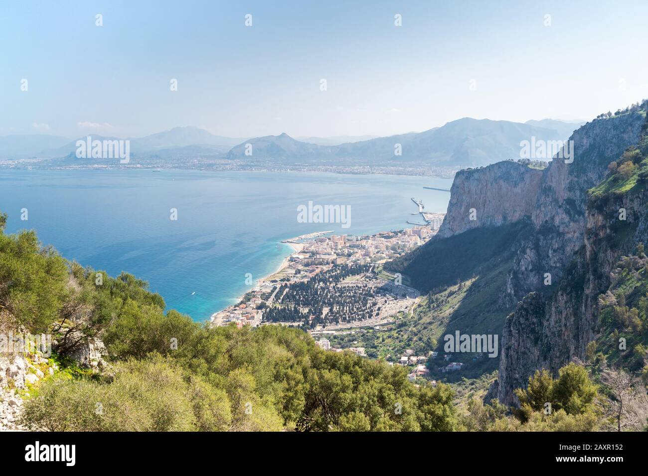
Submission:
[[[446,218],[437,233],[447,238],[472,228],[505,225],[531,216],[542,171],[513,161],[457,172]],[[474,209],[475,220],[470,220]]]

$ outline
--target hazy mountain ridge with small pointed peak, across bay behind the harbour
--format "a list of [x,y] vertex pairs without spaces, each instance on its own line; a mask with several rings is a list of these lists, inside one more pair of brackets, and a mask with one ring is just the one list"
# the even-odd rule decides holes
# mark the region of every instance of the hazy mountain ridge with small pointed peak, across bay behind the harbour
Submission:
[[[483,166],[520,157],[520,142],[531,138],[544,141],[567,139],[554,129],[506,120],[470,119],[448,122],[445,126],[420,133],[378,137],[319,146],[297,141],[285,133],[249,139],[253,155],[245,155],[245,144],[233,148],[231,160],[272,161],[281,164],[319,163],[375,166]],[[398,150],[400,149],[400,154]]]

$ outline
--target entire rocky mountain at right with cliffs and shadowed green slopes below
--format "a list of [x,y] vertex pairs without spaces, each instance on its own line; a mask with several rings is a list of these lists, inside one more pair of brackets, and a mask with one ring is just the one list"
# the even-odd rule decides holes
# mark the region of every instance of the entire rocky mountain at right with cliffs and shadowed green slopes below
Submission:
[[[601,296],[618,291],[621,278],[614,276],[631,283],[623,292],[633,302],[642,295],[629,289],[648,286],[643,251],[623,265],[627,271],[619,268],[623,256],[648,242],[647,109],[644,101],[576,130],[573,162],[555,159],[544,170],[505,162],[458,172],[437,236],[386,264],[428,293],[411,324],[423,339],[440,341],[455,330],[502,336],[499,362],[456,357],[468,365],[464,375],[498,370],[489,398],[515,405],[513,391],[536,370],[556,374],[572,359],[586,359],[592,342],[610,350],[613,343],[601,341],[612,325],[601,321]],[[612,314],[629,312],[619,306]],[[648,328],[645,313],[633,319],[635,328]],[[615,325],[617,335],[623,332]],[[642,337],[627,339],[640,345]],[[632,361],[633,352],[641,354],[627,367],[635,378],[645,365],[638,348],[621,356]]]

